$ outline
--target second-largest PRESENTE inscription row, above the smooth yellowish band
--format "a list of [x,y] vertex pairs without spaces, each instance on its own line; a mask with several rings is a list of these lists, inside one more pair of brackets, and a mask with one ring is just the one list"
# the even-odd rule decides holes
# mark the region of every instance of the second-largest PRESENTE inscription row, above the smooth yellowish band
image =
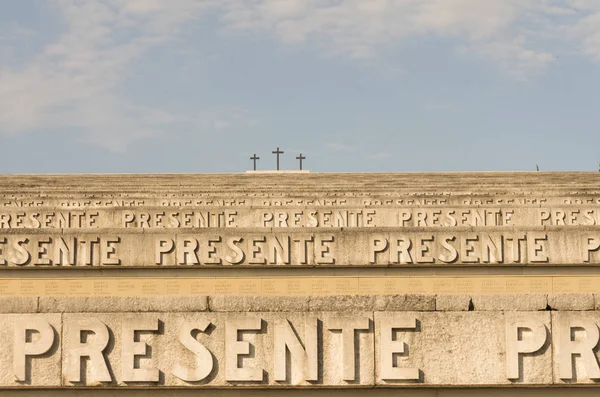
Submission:
[[[96,229],[98,230],[98,229]],[[447,266],[596,265],[600,234],[407,232],[359,228],[268,233],[206,232],[0,235],[1,266]],[[289,229],[285,229],[289,232]],[[358,230],[360,232],[354,232]],[[368,231],[368,232],[367,232]]]

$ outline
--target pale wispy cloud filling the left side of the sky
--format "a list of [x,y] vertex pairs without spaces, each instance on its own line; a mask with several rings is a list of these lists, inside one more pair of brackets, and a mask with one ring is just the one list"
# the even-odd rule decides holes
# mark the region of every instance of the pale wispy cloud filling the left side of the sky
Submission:
[[57,0],[54,4],[65,32],[23,69],[0,67],[3,133],[73,129],[81,131],[81,140],[124,151],[131,142],[180,123],[221,129],[246,120],[237,108],[173,114],[136,104],[122,91],[134,61],[175,38],[188,20],[213,3]]

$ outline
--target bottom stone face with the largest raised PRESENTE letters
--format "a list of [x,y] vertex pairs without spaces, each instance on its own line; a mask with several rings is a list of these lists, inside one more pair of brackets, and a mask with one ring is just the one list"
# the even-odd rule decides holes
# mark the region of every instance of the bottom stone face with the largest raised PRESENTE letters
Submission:
[[65,313],[2,320],[2,386],[548,385],[600,379],[593,313]]

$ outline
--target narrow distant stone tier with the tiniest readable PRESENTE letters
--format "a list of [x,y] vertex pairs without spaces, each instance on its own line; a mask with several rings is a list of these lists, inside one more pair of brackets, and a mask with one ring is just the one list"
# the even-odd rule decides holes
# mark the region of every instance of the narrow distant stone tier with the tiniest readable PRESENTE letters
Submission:
[[[417,209],[519,209],[521,211],[535,211],[539,208],[553,209],[556,211],[565,210],[565,215],[574,215],[577,219],[584,219],[583,214],[572,214],[571,210],[588,210],[595,208],[600,204],[600,198],[597,195],[551,195],[547,192],[540,192],[539,195],[430,195],[427,197],[415,197],[411,195],[340,195],[319,193],[317,196],[302,196],[290,194],[285,197],[274,196],[271,192],[260,195],[259,197],[250,197],[245,194],[230,195],[223,197],[193,196],[191,198],[160,198],[160,197],[136,197],[136,198],[116,198],[96,197],[89,198],[40,198],[33,195],[31,197],[22,197],[20,199],[1,199],[0,208],[4,213],[48,213],[49,211],[72,211],[73,215],[83,211],[95,213],[98,211],[143,211],[155,210],[164,211],[191,211],[191,210],[298,210],[298,209],[318,209],[328,211],[335,208],[364,208],[364,209],[411,209],[417,212]],[[26,222],[33,220],[24,217]],[[559,216],[553,213],[552,218],[547,222],[551,224],[553,219],[563,219],[570,221],[569,218]],[[44,219],[44,218],[41,218]]]

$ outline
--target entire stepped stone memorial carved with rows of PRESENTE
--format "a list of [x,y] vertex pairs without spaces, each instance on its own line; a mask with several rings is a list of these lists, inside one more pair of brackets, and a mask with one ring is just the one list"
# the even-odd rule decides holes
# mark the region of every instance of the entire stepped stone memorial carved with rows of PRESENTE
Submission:
[[600,173],[0,177],[0,396],[598,395],[598,294]]

